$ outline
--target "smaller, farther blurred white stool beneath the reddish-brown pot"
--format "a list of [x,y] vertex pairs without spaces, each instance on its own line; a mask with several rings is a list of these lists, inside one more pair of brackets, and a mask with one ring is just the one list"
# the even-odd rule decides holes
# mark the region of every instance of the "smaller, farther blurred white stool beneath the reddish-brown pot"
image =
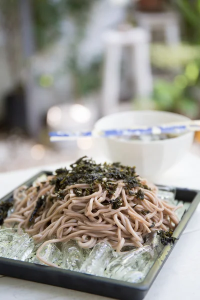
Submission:
[[167,44],[180,42],[179,15],[174,11],[166,12],[140,12],[134,14],[137,25],[145,29],[151,36],[152,29],[164,30]]

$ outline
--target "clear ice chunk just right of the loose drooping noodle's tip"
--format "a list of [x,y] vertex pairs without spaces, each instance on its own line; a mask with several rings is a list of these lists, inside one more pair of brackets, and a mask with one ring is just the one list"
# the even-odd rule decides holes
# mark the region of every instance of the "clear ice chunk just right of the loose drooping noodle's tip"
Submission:
[[75,240],[62,242],[62,267],[65,269],[78,271],[84,261],[83,249]]

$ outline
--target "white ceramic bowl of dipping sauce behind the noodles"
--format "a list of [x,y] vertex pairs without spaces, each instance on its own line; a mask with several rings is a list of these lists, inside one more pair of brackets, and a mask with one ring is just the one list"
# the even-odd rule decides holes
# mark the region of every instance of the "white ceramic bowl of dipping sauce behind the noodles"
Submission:
[[[124,111],[100,118],[94,125],[94,133],[98,130],[129,128],[133,125],[153,126],[188,120],[186,116],[166,111]],[[105,138],[104,144],[109,160],[135,165],[137,173],[141,176],[155,178],[176,164],[189,150],[192,141],[193,132],[187,132],[177,137],[155,141]],[[104,150],[103,148],[102,151]]]

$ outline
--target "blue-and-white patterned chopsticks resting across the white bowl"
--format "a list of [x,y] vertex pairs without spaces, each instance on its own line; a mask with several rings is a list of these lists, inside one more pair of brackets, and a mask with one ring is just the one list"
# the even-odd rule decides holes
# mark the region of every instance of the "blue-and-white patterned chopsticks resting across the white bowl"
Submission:
[[200,120],[193,120],[187,122],[174,122],[157,126],[132,126],[125,129],[106,129],[106,130],[93,130],[93,131],[77,131],[77,132],[64,132],[54,131],[49,132],[50,141],[65,141],[74,140],[77,138],[85,137],[112,137],[112,136],[131,136],[142,134],[180,134],[186,131],[199,131]]

